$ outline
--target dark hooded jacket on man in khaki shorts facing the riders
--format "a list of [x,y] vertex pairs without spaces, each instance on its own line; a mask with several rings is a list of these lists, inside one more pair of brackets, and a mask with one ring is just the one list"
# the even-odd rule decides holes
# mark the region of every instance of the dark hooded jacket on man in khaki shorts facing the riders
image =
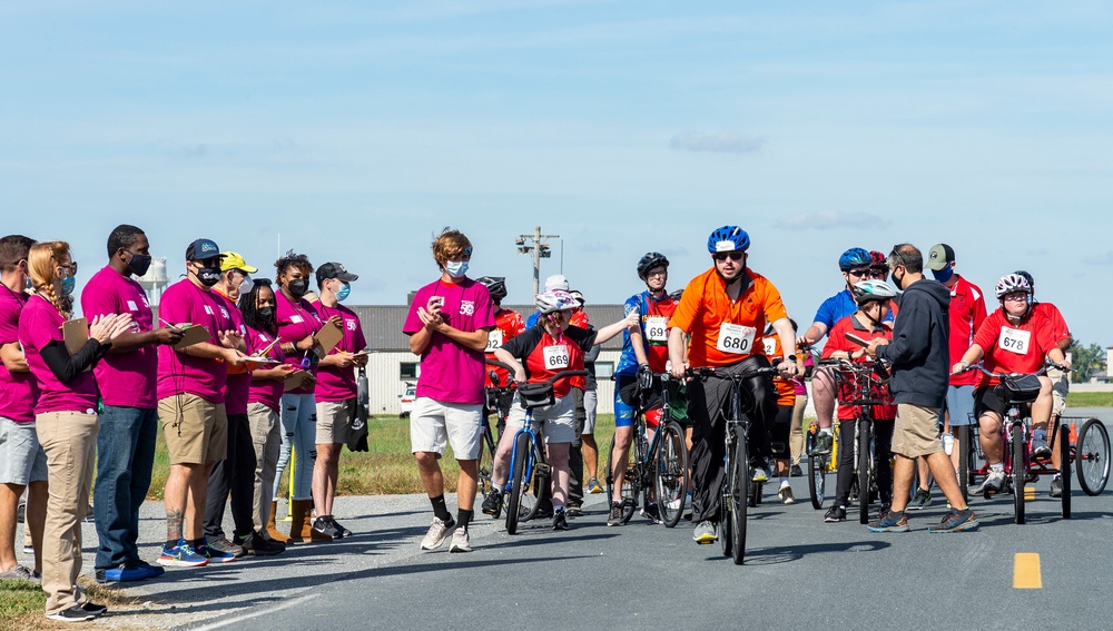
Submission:
[[877,356],[893,365],[893,401],[942,408],[951,384],[951,290],[924,278],[897,304],[893,342],[877,347]]

